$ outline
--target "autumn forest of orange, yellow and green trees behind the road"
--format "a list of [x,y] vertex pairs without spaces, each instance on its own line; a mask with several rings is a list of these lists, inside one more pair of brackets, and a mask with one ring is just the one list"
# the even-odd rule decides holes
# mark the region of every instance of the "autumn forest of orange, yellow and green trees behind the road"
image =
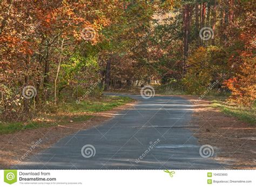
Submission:
[[103,92],[256,99],[254,1],[0,1],[1,121]]

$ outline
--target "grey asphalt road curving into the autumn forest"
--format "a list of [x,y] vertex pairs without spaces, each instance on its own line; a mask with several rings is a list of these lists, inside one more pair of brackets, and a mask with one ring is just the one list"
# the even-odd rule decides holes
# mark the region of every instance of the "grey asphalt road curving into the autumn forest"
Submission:
[[206,156],[200,155],[203,145],[188,128],[193,103],[178,96],[131,97],[139,101],[133,108],[100,126],[64,137],[13,168],[225,169],[212,159],[217,148],[214,154],[210,150],[210,157],[207,150]]

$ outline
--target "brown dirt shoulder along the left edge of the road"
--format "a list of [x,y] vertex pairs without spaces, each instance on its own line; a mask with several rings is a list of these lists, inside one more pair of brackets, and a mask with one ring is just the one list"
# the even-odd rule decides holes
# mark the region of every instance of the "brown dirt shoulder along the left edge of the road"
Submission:
[[135,104],[136,102],[130,102],[106,112],[90,114],[93,117],[85,122],[26,129],[17,133],[0,135],[0,168],[9,169],[11,165],[18,164],[29,156],[51,147],[60,138],[79,130],[96,127],[110,120],[120,110],[131,108]]

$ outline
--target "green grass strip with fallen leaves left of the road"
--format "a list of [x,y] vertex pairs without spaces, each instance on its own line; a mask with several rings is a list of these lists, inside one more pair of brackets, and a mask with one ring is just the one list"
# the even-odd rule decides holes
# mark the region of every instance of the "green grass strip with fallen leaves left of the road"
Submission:
[[114,107],[124,105],[132,99],[124,96],[103,96],[100,99],[90,101],[62,103],[55,114],[38,114],[26,122],[0,122],[0,134],[15,133],[22,129],[36,129],[40,127],[57,126],[58,124],[70,124],[81,122],[93,117],[93,113],[111,110]]

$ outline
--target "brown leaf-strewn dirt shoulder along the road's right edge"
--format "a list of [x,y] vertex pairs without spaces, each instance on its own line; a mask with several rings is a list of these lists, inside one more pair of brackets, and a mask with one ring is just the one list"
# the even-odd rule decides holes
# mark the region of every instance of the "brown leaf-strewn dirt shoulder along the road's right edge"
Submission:
[[200,144],[219,148],[214,157],[220,163],[229,164],[227,169],[256,169],[256,128],[235,117],[212,108],[210,101],[195,96],[182,96],[196,105],[191,123],[199,129],[191,129]]

